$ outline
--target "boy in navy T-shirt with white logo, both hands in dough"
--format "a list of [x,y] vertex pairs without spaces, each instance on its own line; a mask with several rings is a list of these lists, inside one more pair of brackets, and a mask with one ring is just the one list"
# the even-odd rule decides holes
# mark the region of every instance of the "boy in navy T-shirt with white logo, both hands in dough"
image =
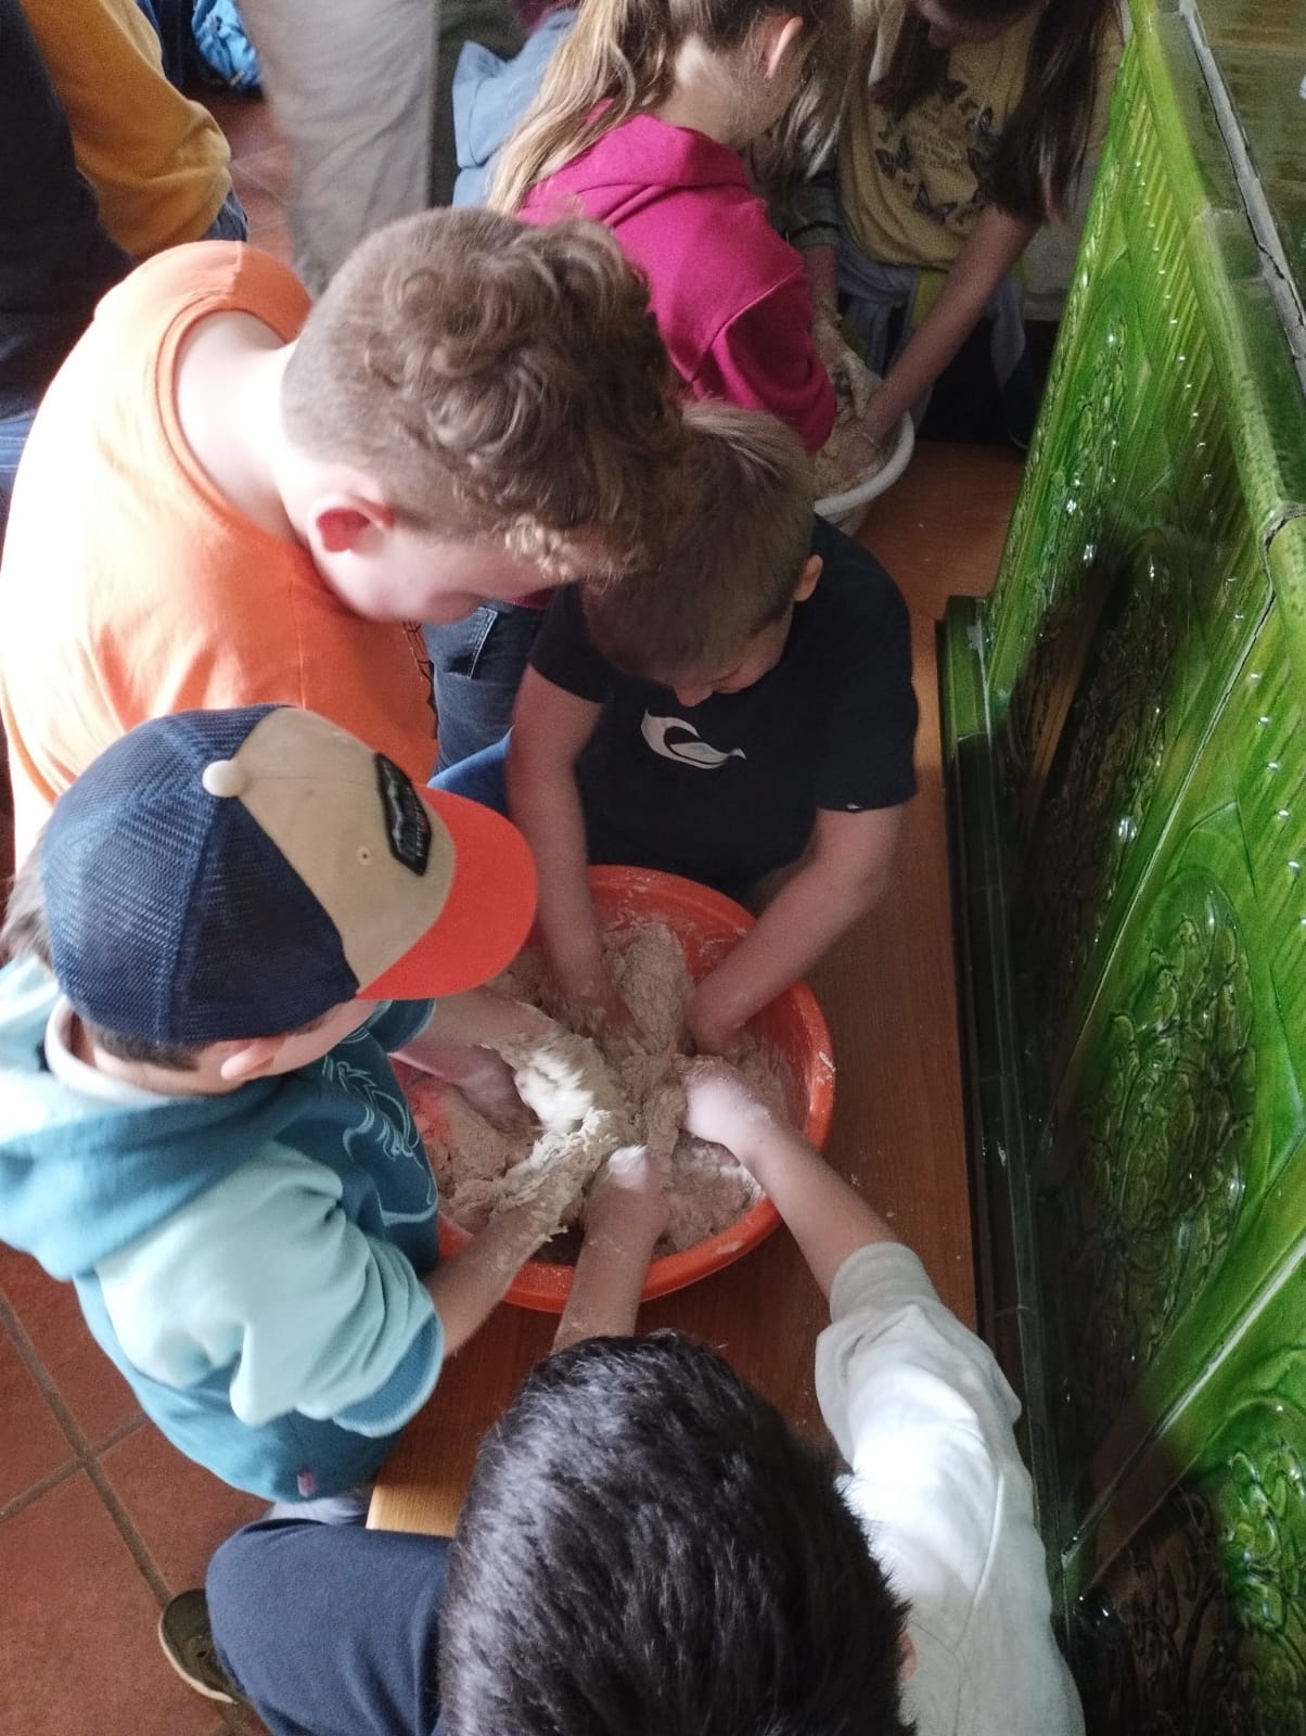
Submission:
[[[915,792],[917,722],[898,587],[813,519],[787,429],[724,406],[717,418],[735,437],[703,455],[665,564],[620,594],[554,599],[507,750],[509,811],[535,851],[538,925],[568,1000],[629,1019],[587,863],[660,868],[762,906],[689,1003],[703,1050],[726,1049],[881,896]],[[439,781],[474,793],[478,760]]]

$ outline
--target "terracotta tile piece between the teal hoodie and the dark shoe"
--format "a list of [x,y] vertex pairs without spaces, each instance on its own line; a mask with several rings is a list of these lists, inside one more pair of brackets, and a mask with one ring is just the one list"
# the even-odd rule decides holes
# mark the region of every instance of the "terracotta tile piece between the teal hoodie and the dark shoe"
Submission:
[[108,1448],[99,1463],[174,1592],[203,1585],[217,1545],[267,1507],[195,1465],[153,1424]]

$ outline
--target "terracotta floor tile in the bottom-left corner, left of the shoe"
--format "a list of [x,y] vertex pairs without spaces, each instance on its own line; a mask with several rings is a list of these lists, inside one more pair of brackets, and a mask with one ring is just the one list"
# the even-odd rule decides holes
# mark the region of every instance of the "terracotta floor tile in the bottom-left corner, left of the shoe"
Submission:
[[158,1606],[85,1472],[0,1522],[0,1684],[23,1736],[212,1736],[163,1660]]

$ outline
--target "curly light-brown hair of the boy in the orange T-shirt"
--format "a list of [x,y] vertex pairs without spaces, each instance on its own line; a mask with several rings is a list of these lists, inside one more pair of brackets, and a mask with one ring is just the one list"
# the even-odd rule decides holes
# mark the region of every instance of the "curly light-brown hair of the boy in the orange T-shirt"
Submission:
[[599,224],[434,210],[368,236],[287,363],[287,437],[420,529],[559,575],[665,535],[684,431],[648,290]]

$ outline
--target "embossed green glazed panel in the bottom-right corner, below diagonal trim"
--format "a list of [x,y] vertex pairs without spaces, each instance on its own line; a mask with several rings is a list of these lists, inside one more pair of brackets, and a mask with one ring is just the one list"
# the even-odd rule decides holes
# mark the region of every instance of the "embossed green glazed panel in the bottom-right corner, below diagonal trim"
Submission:
[[[1075,1611],[1096,1736],[1306,1731],[1306,1290],[1233,1344],[1195,1453]],[[1141,1505],[1141,1502],[1139,1502]]]

